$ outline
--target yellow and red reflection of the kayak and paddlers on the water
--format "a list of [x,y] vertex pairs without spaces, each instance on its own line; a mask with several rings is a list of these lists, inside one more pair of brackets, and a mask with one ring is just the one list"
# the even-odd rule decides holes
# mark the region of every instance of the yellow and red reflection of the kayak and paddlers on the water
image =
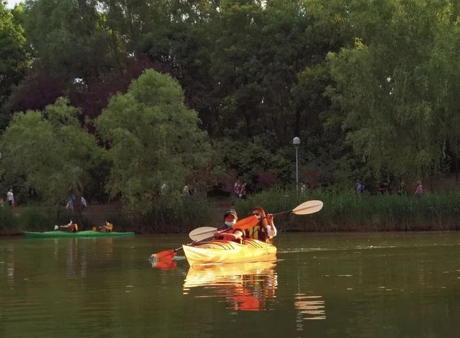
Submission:
[[224,298],[228,309],[261,311],[273,308],[277,289],[276,260],[191,267],[184,295]]

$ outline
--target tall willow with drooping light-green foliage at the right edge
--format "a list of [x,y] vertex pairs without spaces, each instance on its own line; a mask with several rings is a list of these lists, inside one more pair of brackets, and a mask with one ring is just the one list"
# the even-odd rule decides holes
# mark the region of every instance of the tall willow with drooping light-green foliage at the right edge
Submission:
[[355,3],[355,44],[328,56],[335,81],[328,94],[342,113],[355,152],[376,171],[436,173],[459,77],[459,29],[451,1]]

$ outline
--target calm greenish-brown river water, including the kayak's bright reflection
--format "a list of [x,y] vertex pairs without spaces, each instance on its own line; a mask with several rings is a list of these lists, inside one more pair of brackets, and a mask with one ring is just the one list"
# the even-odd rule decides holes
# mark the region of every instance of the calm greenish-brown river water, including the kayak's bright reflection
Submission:
[[280,233],[276,261],[149,265],[185,241],[0,238],[0,337],[460,337],[460,233]]

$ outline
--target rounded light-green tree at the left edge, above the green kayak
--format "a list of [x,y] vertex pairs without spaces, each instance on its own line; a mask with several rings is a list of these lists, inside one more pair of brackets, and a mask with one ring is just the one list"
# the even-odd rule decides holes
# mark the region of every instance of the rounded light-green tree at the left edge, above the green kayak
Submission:
[[82,130],[78,115],[65,98],[43,112],[15,114],[0,140],[4,179],[35,190],[50,206],[70,194],[82,196],[102,149],[93,135]]

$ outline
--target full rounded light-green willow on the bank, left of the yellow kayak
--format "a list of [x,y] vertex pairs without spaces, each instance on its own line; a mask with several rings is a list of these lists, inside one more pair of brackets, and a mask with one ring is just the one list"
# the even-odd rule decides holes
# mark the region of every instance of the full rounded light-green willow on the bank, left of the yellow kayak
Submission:
[[113,161],[107,189],[125,210],[146,214],[177,201],[187,174],[208,158],[198,125],[181,86],[154,70],[111,98],[96,126]]

